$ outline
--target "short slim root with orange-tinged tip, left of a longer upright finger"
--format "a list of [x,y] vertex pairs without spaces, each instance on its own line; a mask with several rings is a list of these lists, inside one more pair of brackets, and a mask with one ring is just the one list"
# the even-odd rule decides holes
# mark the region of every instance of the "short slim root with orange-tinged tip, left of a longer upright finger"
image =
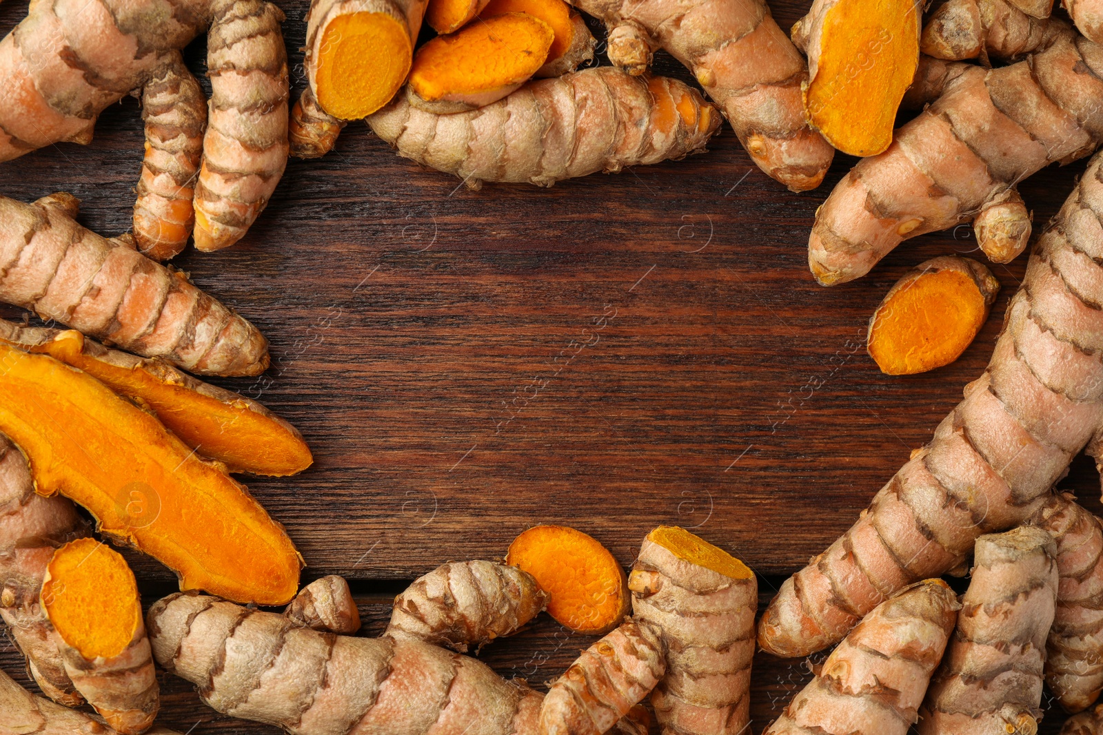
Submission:
[[168,260],[188,245],[192,198],[203,158],[206,97],[179,52],[141,90],[146,159],[138,180],[133,233],[138,249]]

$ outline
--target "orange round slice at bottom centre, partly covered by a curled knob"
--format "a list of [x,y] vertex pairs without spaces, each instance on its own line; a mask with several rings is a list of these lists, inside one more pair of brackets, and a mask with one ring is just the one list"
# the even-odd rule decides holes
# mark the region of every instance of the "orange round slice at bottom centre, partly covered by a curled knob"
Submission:
[[549,596],[548,615],[576,633],[609,633],[628,614],[624,570],[581,531],[535,526],[513,540],[505,561],[533,575]]

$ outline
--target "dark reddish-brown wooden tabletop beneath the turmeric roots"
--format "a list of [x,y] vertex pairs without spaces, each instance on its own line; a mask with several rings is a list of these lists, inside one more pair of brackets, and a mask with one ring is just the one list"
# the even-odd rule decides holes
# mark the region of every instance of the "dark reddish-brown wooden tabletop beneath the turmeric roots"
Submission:
[[[297,97],[308,6],[279,4]],[[788,28],[807,4],[773,10]],[[0,4],[0,32],[25,11]],[[189,50],[196,73],[203,53],[202,41]],[[657,66],[688,80],[668,57]],[[0,164],[0,194],[66,190],[84,199],[85,225],[127,230],[141,145],[128,98],[92,145]],[[820,190],[792,194],[726,129],[686,161],[471,192],[362,123],[329,156],[292,160],[246,240],[176,264],[271,341],[267,375],[217,382],[289,419],[314,451],[301,476],[246,479],[306,556],[303,579],[349,577],[376,635],[406,581],[501,556],[528,526],[574,526],[628,565],[652,527],[677,523],[750,564],[764,605],[981,374],[1025,267],[994,267],[1004,291],[956,364],[881,375],[865,352],[881,296],[908,268],[975,242],[967,227],[925,236],[857,283],[816,285],[807,230],[852,163],[839,156]],[[1037,229],[1082,170],[1021,187]],[[1065,486],[1099,509],[1090,462]],[[156,562],[135,564],[147,604],[174,588]],[[538,683],[589,642],[542,616],[483,658]],[[10,645],[0,666],[21,672]],[[803,661],[759,657],[754,733],[807,679]],[[161,721],[181,732],[275,732],[206,709],[181,680],[162,685]],[[1051,711],[1043,731],[1062,720]]]

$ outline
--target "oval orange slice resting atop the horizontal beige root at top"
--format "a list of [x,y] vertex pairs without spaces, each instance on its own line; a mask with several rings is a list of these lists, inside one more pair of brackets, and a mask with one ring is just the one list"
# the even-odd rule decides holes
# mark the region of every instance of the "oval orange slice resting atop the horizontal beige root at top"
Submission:
[[438,115],[496,102],[527,82],[548,57],[555,32],[528,13],[481,20],[417,50],[410,105]]

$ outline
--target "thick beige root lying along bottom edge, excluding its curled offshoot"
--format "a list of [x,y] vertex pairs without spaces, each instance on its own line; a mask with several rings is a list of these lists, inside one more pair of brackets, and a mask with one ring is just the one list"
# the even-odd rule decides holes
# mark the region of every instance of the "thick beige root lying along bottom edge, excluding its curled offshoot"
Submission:
[[535,735],[543,696],[410,638],[352,638],[215,597],[150,608],[153,656],[208,705],[291,735]]

